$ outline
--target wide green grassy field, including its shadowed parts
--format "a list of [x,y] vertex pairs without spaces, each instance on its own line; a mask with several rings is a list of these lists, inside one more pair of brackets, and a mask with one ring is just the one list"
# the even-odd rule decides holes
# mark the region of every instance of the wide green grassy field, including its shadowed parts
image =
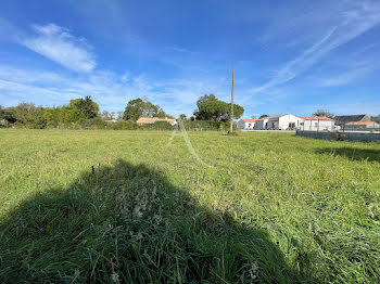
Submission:
[[0,130],[0,283],[379,283],[380,144]]

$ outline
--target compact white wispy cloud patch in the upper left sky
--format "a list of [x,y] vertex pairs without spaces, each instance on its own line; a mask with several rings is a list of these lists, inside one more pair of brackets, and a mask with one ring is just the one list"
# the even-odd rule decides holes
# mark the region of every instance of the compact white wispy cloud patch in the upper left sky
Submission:
[[68,29],[54,24],[33,26],[36,35],[26,36],[20,42],[28,49],[75,72],[91,72],[96,60],[83,38],[74,37]]

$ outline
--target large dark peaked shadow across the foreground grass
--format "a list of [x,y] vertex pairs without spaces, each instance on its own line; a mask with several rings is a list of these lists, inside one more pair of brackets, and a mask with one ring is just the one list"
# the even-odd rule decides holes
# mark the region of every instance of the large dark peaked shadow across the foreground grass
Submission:
[[268,234],[124,160],[21,204],[0,223],[1,283],[294,283]]

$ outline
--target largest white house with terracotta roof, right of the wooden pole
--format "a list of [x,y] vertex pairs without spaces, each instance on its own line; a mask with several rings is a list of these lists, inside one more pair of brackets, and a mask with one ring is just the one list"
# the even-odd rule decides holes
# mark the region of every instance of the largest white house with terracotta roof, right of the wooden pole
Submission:
[[256,121],[256,129],[296,129],[302,121],[302,118],[288,114],[288,115],[275,115],[267,116]]

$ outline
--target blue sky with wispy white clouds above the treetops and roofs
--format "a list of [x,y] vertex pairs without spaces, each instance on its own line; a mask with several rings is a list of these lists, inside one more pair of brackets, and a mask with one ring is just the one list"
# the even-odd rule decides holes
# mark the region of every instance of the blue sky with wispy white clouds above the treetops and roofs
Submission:
[[228,101],[244,117],[380,113],[380,1],[18,1],[0,3],[0,104],[147,98],[192,114]]

